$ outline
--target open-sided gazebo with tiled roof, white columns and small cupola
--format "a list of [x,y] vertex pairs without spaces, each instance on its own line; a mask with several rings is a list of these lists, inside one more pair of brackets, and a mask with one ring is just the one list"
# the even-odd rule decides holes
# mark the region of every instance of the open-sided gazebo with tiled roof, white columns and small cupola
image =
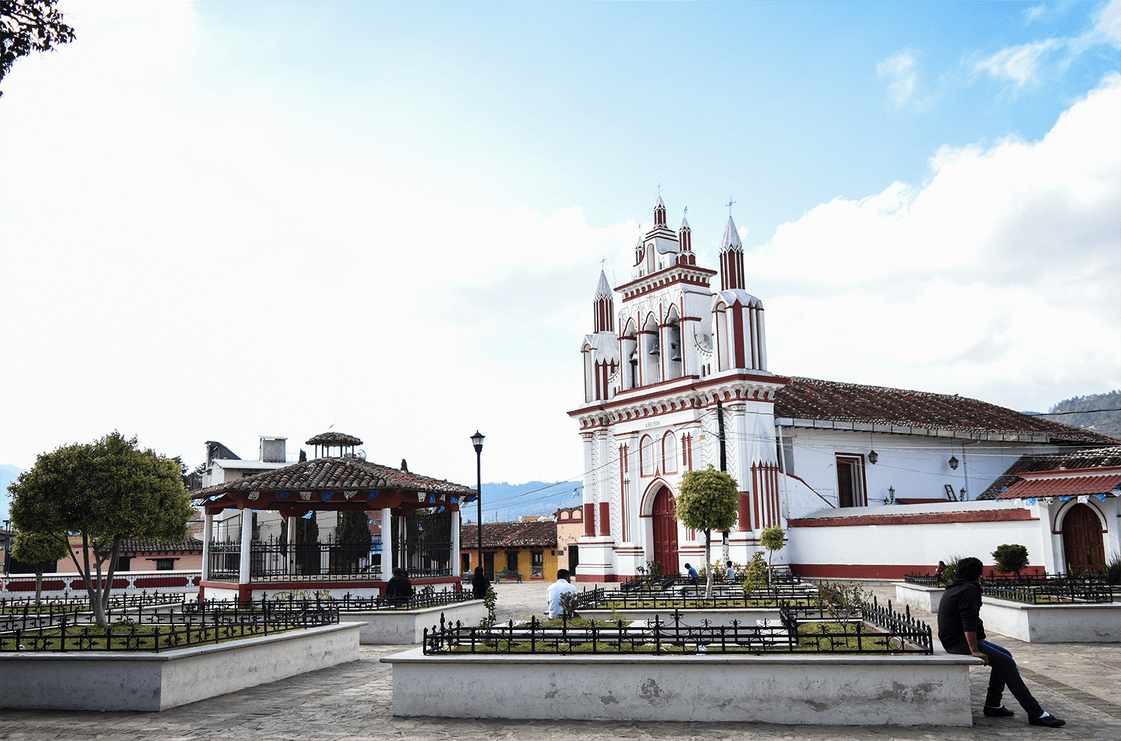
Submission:
[[[252,600],[278,592],[385,593],[395,566],[409,569],[414,584],[460,583],[460,506],[474,501],[469,487],[379,465],[355,454],[362,441],[324,433],[307,441],[323,457],[229,481],[193,492],[205,510],[200,599]],[[332,456],[332,448],[339,452]],[[345,452],[344,452],[345,451]],[[225,537],[215,537],[215,516]],[[257,537],[251,513],[276,511],[279,538]],[[312,512],[378,512],[381,558],[348,544],[299,543],[300,518]],[[240,516],[240,517],[239,517]],[[237,530],[230,527],[233,525]],[[234,539],[231,530],[240,537]],[[363,565],[363,562],[365,565]]]

